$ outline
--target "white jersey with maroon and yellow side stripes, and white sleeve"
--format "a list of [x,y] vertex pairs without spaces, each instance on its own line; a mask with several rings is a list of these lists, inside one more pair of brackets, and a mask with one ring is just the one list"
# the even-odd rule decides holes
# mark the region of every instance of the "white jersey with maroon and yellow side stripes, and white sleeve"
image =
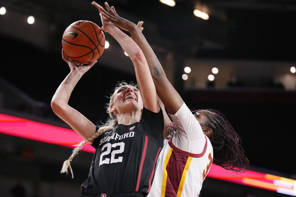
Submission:
[[185,103],[170,116],[177,131],[164,140],[147,197],[195,197],[211,167],[213,148]]

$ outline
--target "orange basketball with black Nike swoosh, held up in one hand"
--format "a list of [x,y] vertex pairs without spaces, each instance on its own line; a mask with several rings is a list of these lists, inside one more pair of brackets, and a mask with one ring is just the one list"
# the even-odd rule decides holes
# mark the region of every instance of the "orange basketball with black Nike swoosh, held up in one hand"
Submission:
[[62,46],[73,62],[88,64],[104,52],[105,35],[93,22],[76,21],[64,31]]

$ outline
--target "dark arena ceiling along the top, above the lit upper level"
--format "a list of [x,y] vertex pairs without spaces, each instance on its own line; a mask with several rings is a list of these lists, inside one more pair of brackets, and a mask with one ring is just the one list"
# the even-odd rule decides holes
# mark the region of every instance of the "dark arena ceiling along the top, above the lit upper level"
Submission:
[[[1,0],[0,4],[55,24],[58,41],[74,21],[90,20],[100,26],[91,1]],[[158,0],[109,4],[132,22],[143,20],[143,33],[151,44],[185,57],[295,60],[294,0],[177,0],[175,7]],[[195,7],[206,11],[209,20],[195,17]]]

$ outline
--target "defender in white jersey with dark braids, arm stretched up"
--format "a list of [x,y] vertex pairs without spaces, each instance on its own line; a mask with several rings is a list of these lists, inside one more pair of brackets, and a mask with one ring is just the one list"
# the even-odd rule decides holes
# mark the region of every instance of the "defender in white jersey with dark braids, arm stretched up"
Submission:
[[100,12],[121,29],[129,31],[142,49],[158,96],[177,129],[173,137],[164,140],[148,196],[198,196],[212,163],[235,172],[248,170],[249,160],[243,153],[240,137],[224,115],[213,110],[199,110],[193,115],[167,80],[138,26],[119,17],[113,6],[110,8],[107,3],[105,6],[108,12],[99,7]]

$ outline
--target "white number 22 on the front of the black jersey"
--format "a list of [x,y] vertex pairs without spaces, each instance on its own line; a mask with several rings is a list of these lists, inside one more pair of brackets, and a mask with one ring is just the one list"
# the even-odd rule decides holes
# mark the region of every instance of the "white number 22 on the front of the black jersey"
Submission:
[[[112,147],[114,148],[114,147],[117,147],[117,146],[120,146],[119,149],[113,150],[111,152],[111,148]],[[122,162],[122,157],[118,157],[117,159],[115,159],[115,154],[119,154],[119,153],[122,153],[124,151],[124,142],[115,143],[115,144],[106,143],[102,147],[102,151],[105,150],[106,148],[107,148],[107,150],[102,152],[102,154],[101,154],[99,166],[101,166],[104,163],[109,164],[109,163]],[[111,152],[111,159],[106,158],[106,159],[103,160],[103,156],[104,155],[109,155],[110,152]]]

